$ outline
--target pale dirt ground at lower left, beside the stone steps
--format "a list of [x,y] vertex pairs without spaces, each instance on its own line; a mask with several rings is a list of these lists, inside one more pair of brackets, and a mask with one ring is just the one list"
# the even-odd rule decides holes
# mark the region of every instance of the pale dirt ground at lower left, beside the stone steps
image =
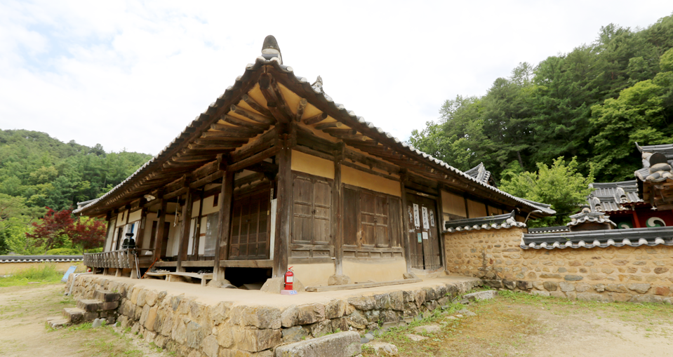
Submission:
[[51,330],[49,317],[76,302],[64,284],[0,288],[0,356],[162,356],[121,328],[91,324]]

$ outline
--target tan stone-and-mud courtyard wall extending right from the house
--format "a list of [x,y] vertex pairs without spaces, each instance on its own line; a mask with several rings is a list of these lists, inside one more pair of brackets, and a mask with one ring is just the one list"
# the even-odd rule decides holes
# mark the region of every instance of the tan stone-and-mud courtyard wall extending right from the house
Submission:
[[568,299],[672,303],[673,247],[522,249],[520,228],[444,234],[447,270]]

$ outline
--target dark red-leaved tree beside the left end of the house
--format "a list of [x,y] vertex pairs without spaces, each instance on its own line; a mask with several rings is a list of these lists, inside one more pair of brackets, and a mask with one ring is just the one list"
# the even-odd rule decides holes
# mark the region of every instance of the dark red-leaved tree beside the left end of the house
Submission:
[[98,248],[105,242],[105,223],[94,219],[72,218],[72,210],[55,211],[47,207],[47,214],[40,222],[34,222],[32,234],[35,244],[46,250],[60,248],[67,243],[81,245],[82,249]]

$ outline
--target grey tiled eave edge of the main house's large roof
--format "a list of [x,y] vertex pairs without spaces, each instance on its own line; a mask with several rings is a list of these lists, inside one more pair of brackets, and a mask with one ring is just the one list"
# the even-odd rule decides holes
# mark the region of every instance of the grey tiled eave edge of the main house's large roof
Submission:
[[381,142],[382,144],[387,144],[403,154],[411,156],[420,162],[429,164],[429,166],[433,168],[439,166],[441,167],[442,170],[444,170],[448,174],[465,177],[481,185],[482,187],[485,187],[489,191],[493,191],[493,193],[495,194],[505,196],[507,198],[510,198],[514,201],[523,204],[524,206],[528,206],[535,210],[540,210],[542,213],[545,213],[547,215],[554,215],[556,213],[556,211],[552,210],[549,205],[545,205],[542,203],[535,203],[534,201],[528,201],[524,200],[523,198],[512,196],[511,194],[508,194],[505,191],[501,191],[500,189],[497,189],[489,184],[480,182],[475,177],[463,173],[462,171],[458,170],[457,168],[454,168],[453,166],[449,165],[448,163],[445,163],[444,161],[434,158],[433,156],[426,154],[423,151],[415,149],[413,146],[407,144],[406,142],[402,142],[401,140],[399,140],[397,137],[394,137],[390,133],[386,133],[385,130],[382,130],[381,128],[374,126],[372,123],[365,121],[363,117],[356,116],[354,112],[348,111],[344,107],[344,105],[335,103],[332,97],[326,95],[323,92],[322,88],[320,88],[319,86],[316,86],[315,88],[312,87],[308,79],[301,76],[297,76],[294,73],[292,67],[281,65],[281,61],[276,55],[268,55],[268,54],[264,54],[258,57],[255,60],[255,63],[247,65],[246,72],[244,73],[243,76],[239,76],[236,79],[236,83],[234,83],[234,86],[227,88],[227,90],[225,90],[225,93],[223,93],[218,98],[218,100],[213,102],[204,113],[197,116],[196,119],[194,119],[194,121],[192,121],[192,123],[190,123],[189,126],[187,126],[185,130],[182,133],[180,133],[178,137],[175,138],[175,140],[173,140],[170,144],[168,144],[164,148],[164,150],[159,152],[159,154],[154,156],[154,158],[147,161],[145,165],[138,168],[138,170],[136,170],[135,173],[131,174],[131,176],[127,177],[126,180],[116,185],[116,187],[108,191],[106,194],[104,194],[97,200],[88,203],[86,206],[82,208],[77,208],[76,210],[73,211],[73,213],[75,214],[82,213],[83,211],[86,211],[89,208],[93,208],[98,203],[105,202],[105,200],[111,198],[115,194],[119,194],[120,192],[121,194],[124,194],[123,192],[124,189],[133,186],[133,184],[138,182],[140,179],[142,179],[142,177],[146,176],[149,172],[152,172],[152,170],[161,169],[161,165],[164,162],[166,162],[175,153],[175,151],[178,150],[180,144],[182,144],[185,140],[192,140],[192,138],[195,137],[194,136],[195,128],[199,128],[204,125],[204,122],[210,121],[211,114],[214,114],[223,105],[227,105],[230,102],[232,102],[232,98],[236,98],[236,96],[244,94],[241,93],[241,88],[243,87],[242,83],[244,81],[248,81],[249,79],[251,79],[253,73],[258,72],[260,69],[262,69],[263,66],[272,66],[274,70],[276,70],[276,72],[286,74],[288,81],[290,81],[293,86],[300,86],[302,90],[311,91],[312,93],[314,93],[315,100],[321,101],[322,104],[324,105],[331,106],[332,109],[337,110],[341,114],[340,117],[335,117],[335,119],[337,119],[338,121],[345,121],[345,124],[348,126],[353,124],[359,124],[357,130],[359,130],[364,135],[368,135],[368,132],[371,134],[378,133],[377,135],[378,137],[382,135],[382,137],[385,137],[387,139],[387,142]]

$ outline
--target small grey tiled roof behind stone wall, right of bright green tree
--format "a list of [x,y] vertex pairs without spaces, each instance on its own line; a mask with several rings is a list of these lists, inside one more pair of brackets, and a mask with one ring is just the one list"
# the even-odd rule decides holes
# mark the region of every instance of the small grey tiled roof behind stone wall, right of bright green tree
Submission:
[[638,196],[636,180],[620,182],[594,182],[589,184],[594,191],[589,194],[587,202],[592,212],[614,212],[630,210],[632,203],[643,203]]

